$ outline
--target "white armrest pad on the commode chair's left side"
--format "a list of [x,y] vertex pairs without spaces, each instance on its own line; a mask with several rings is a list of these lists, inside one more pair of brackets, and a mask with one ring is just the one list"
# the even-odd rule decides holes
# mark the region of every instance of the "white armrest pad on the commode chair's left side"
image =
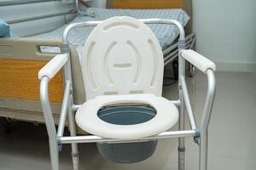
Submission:
[[67,63],[67,60],[67,54],[57,54],[38,72],[38,78],[41,79],[42,77],[48,77],[51,79],[52,77],[55,77],[55,74]]

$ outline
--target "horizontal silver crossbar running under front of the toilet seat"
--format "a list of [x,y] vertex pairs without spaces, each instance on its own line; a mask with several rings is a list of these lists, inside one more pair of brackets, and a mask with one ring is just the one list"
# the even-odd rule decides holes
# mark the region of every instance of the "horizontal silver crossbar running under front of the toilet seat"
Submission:
[[70,143],[128,143],[128,142],[139,142],[145,140],[154,140],[154,139],[168,139],[174,137],[187,137],[194,136],[195,130],[187,131],[168,131],[160,133],[157,136],[146,137],[143,139],[103,139],[102,137],[95,135],[87,136],[75,136],[75,137],[61,137],[61,144],[70,144]]

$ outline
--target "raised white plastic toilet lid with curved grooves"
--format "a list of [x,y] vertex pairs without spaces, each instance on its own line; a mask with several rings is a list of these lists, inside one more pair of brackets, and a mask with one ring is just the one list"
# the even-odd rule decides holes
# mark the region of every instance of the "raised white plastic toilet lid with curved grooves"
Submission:
[[162,50],[154,33],[131,17],[113,17],[90,33],[81,58],[86,99],[108,94],[161,96]]

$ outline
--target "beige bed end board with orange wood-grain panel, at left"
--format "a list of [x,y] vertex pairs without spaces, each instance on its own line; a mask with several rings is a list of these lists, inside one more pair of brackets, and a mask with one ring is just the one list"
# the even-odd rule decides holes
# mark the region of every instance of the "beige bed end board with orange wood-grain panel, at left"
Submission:
[[[37,114],[42,111],[40,107],[35,106],[40,101],[39,87],[35,86],[39,84],[38,71],[56,55],[41,52],[42,46],[61,49],[61,41],[27,37],[0,38],[0,99],[4,101],[0,105],[1,108],[33,111],[38,112]],[[56,88],[59,90],[56,91]],[[59,110],[62,88],[62,71],[60,71],[49,88],[50,101],[55,103],[54,112]],[[14,114],[11,115],[15,117]]]

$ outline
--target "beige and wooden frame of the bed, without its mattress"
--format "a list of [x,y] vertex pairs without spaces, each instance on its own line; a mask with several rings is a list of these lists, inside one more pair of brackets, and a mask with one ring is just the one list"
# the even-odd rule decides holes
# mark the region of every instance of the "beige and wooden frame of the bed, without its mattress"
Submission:
[[[145,3],[147,2],[147,3]],[[191,16],[190,0],[108,0],[108,8],[184,8]],[[191,32],[191,22],[186,27]],[[195,35],[187,38],[188,45],[195,41]],[[193,42],[194,43],[194,42]],[[0,117],[9,117],[27,122],[44,122],[39,102],[38,71],[56,54],[43,53],[42,46],[61,49],[61,41],[32,38],[0,38]],[[74,104],[85,101],[84,83],[79,68],[79,55],[71,47],[73,69]],[[170,62],[177,55],[177,44],[172,45],[164,54]],[[36,83],[35,83],[36,82]],[[35,86],[38,84],[38,86]],[[54,91],[52,89],[58,89]],[[59,121],[63,96],[63,76],[60,71],[49,84],[49,99],[53,108],[55,122]]]

